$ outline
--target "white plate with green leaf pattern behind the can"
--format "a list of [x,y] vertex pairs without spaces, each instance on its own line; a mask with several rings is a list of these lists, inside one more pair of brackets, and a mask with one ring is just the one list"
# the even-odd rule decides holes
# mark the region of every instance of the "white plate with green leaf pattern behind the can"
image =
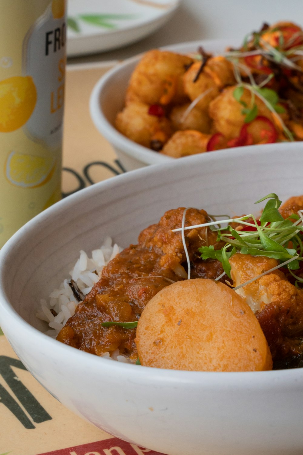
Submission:
[[69,0],[67,55],[109,51],[164,25],[179,0]]

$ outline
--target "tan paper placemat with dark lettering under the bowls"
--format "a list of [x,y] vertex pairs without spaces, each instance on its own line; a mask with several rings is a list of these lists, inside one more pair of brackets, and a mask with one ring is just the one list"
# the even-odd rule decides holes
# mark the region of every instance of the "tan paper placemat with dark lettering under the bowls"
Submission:
[[[89,96],[109,65],[72,66],[66,75],[64,196],[123,172],[89,116]],[[161,455],[80,419],[25,369],[0,330],[0,455]]]

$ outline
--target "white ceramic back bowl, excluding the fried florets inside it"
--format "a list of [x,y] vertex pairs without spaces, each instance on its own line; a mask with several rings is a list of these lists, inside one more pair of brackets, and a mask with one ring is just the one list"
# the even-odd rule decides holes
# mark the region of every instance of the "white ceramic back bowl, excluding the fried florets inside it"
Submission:
[[[233,40],[201,40],[176,44],[163,49],[180,54],[196,52],[199,46],[213,54],[222,53],[227,46],[241,43]],[[124,107],[129,78],[141,56],[133,57],[108,71],[94,86],[90,97],[90,115],[100,133],[112,144],[125,169],[131,171],[148,164],[169,162],[174,158],[154,152],[131,141],[114,127],[114,120]]]

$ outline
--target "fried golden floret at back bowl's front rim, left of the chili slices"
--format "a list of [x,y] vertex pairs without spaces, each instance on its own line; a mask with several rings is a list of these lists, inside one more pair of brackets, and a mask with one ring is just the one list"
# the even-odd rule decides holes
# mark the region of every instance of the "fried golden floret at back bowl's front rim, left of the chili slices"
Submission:
[[166,142],[161,153],[173,158],[203,153],[206,152],[210,137],[210,134],[203,134],[194,130],[176,131]]

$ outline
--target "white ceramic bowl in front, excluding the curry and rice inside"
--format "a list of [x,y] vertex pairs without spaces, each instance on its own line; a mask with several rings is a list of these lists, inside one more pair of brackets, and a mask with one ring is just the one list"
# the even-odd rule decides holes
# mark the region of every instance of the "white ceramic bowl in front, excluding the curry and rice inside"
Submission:
[[122,246],[172,207],[258,211],[303,192],[302,142],[173,160],[114,177],[55,204],[0,251],[0,325],[25,366],[65,406],[112,435],[169,455],[302,455],[303,369],[209,373],[120,364],[43,334],[40,298],[79,249]]

